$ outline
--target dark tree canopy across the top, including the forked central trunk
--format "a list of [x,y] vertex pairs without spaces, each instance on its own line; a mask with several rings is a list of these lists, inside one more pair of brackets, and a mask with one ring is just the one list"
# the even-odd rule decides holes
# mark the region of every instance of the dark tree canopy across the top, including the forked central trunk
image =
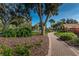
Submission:
[[[0,16],[5,28],[16,17],[23,17],[29,21],[32,19],[31,12],[37,13],[40,20],[41,34],[45,34],[47,21],[50,17],[58,15],[60,5],[59,3],[2,3],[0,4]],[[43,19],[43,16],[45,16],[45,19]],[[16,25],[21,23],[17,21],[13,23]]]

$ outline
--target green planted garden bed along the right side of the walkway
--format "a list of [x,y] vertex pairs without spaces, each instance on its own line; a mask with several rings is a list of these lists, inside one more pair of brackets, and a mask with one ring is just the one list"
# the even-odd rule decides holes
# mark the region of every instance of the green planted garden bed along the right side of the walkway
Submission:
[[55,35],[70,46],[79,46],[79,38],[73,32],[56,32]]

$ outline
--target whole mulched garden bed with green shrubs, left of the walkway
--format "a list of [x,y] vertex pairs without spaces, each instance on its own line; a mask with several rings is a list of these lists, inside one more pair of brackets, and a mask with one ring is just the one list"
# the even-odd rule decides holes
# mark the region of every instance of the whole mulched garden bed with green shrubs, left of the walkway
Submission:
[[48,37],[32,36],[32,37],[0,37],[0,55],[31,55],[44,56],[48,53]]

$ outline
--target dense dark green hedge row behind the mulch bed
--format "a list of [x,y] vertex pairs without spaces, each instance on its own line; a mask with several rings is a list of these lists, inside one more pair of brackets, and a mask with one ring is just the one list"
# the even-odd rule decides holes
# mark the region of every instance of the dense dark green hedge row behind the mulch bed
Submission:
[[3,32],[3,37],[27,37],[31,35],[30,28],[7,29]]

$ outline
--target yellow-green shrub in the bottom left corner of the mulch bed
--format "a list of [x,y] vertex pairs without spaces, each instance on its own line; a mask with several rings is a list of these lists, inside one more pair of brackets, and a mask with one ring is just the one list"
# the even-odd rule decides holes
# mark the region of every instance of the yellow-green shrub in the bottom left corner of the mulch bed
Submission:
[[12,56],[13,55],[13,50],[12,50],[12,48],[10,48],[8,46],[1,45],[0,46],[0,55]]

